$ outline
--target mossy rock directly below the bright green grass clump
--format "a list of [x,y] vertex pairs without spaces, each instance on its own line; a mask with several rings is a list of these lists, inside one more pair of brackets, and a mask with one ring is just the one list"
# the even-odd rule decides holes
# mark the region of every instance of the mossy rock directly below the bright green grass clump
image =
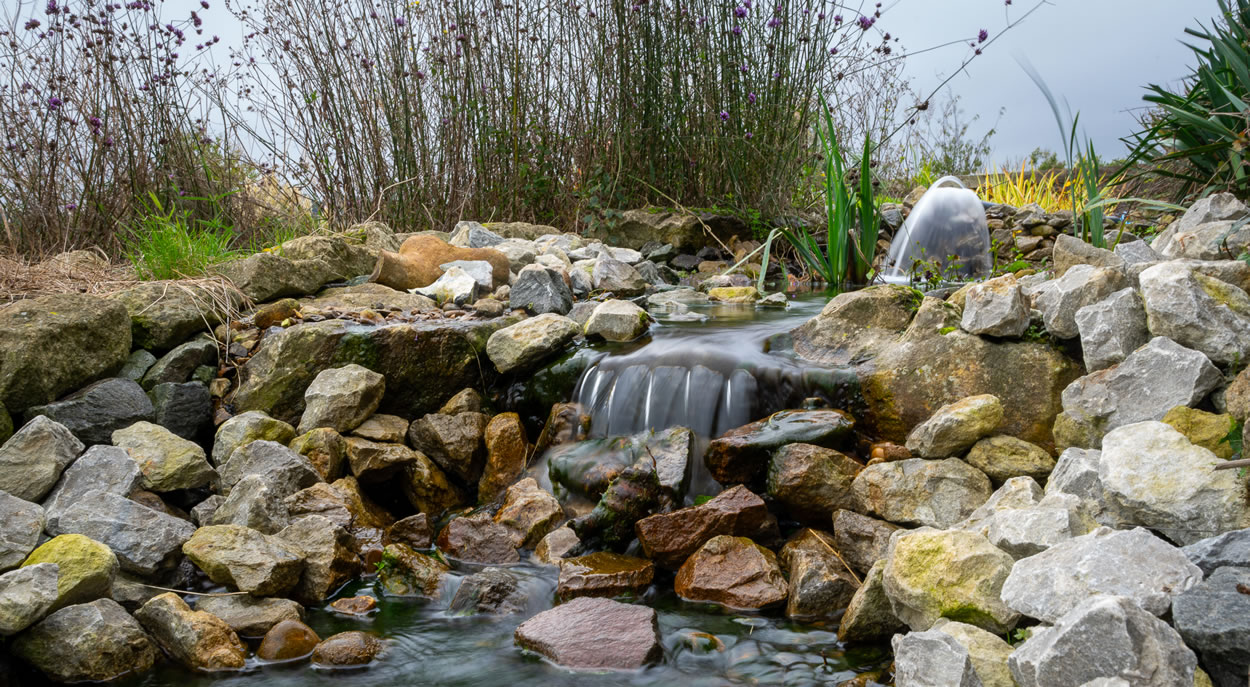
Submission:
[[136,348],[168,351],[191,336],[221,324],[228,309],[242,304],[242,294],[229,285],[212,287],[189,282],[149,281],[109,296],[130,315]]

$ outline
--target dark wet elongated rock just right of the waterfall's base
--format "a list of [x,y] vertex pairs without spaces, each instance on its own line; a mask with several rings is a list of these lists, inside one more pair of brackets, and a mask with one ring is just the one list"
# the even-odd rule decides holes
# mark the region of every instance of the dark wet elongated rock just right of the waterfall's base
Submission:
[[786,410],[725,432],[708,445],[704,462],[722,485],[750,485],[768,471],[772,451],[799,442],[838,448],[854,426],[840,410]]

